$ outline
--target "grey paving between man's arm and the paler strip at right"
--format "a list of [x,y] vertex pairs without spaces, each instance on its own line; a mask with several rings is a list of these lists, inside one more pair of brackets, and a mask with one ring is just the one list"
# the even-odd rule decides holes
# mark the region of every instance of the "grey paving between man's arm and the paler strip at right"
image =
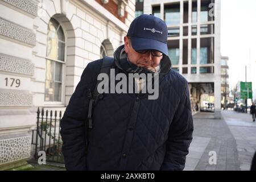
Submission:
[[[214,119],[213,113],[193,116],[194,132],[184,170],[240,170],[236,140],[224,119]],[[217,164],[209,164],[209,152],[217,154]]]

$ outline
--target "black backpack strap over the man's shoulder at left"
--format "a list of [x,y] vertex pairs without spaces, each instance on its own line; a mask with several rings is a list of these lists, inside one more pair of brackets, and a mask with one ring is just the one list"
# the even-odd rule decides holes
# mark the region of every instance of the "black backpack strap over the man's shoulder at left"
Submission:
[[[113,57],[108,57],[104,56],[102,59],[102,64],[101,64],[101,70],[100,73],[106,73],[109,75],[110,69],[114,67],[114,58]],[[99,73],[99,74],[100,74]],[[101,82],[101,80],[97,80],[97,83],[94,87],[93,94],[90,92],[87,93],[87,96],[89,98],[89,107],[88,107],[88,127],[89,129],[92,129],[92,112],[93,112],[93,107],[96,106],[98,100],[101,100],[104,97],[104,94],[98,93],[98,84]]]

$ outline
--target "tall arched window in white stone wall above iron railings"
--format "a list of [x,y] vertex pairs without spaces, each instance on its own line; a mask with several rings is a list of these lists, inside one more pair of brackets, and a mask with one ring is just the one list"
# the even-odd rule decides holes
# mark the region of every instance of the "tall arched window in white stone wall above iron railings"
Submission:
[[65,36],[59,22],[51,18],[47,31],[44,101],[60,102],[65,57]]

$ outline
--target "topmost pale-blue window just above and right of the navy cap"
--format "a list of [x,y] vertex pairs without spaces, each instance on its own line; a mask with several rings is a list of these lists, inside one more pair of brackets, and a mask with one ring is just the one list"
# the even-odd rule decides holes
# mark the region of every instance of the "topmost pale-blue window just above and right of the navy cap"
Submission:
[[164,6],[164,22],[167,26],[180,24],[180,4]]

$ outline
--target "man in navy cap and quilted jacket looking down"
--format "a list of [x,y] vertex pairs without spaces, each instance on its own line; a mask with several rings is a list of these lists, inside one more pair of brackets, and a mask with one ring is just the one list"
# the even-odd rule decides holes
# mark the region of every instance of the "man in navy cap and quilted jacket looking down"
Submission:
[[[125,45],[114,52],[115,75],[128,79],[129,74],[145,73],[159,79],[137,79],[139,93],[104,93],[92,119],[88,90],[97,88],[102,59],[85,68],[60,123],[67,170],[184,169],[193,132],[191,102],[187,81],[171,69],[167,32],[153,15],[133,20]],[[149,99],[141,82],[152,80],[159,95]]]

